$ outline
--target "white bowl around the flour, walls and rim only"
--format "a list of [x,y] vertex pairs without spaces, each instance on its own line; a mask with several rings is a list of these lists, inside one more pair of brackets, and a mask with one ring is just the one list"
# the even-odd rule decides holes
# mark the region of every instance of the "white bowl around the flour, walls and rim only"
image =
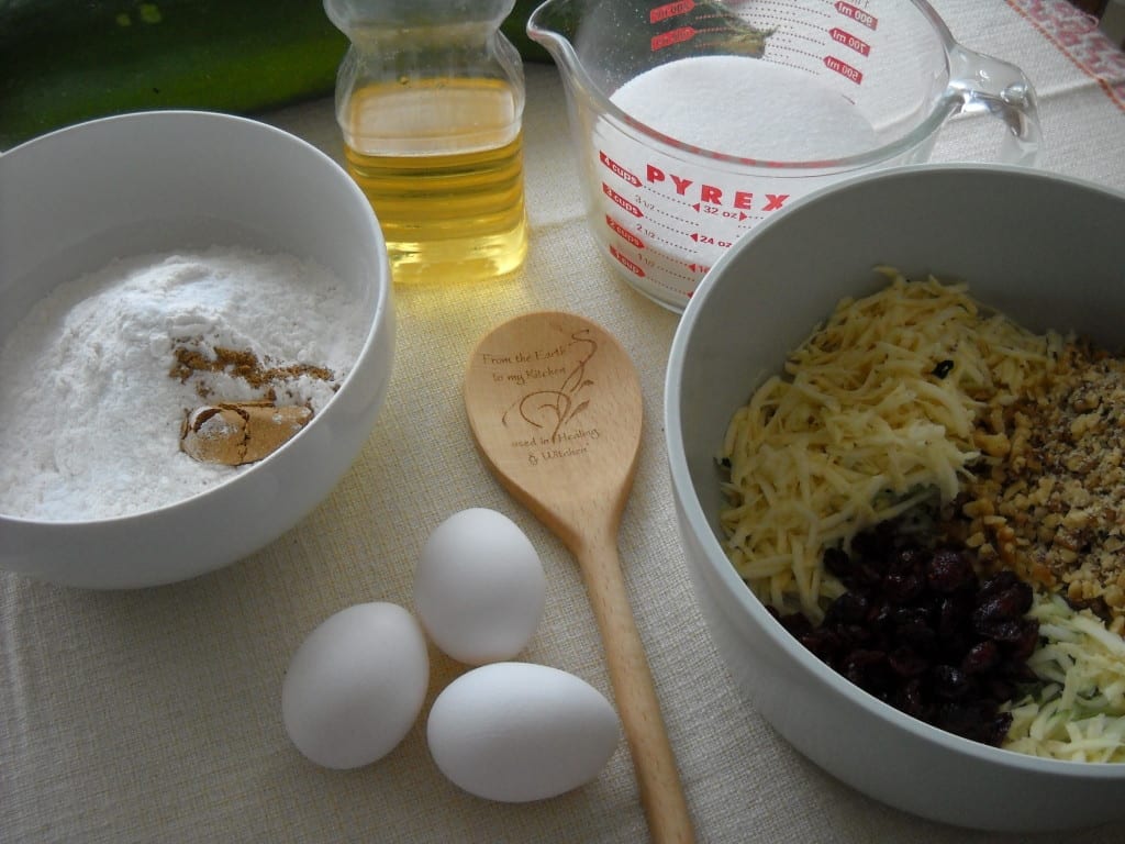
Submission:
[[0,155],[0,339],[55,285],[122,255],[238,244],[313,259],[351,286],[367,333],[339,392],[266,460],[135,515],[0,514],[0,568],[122,589],[228,565],[296,524],[370,434],[394,353],[386,246],[328,156],[253,120],[198,111],[110,117]]

